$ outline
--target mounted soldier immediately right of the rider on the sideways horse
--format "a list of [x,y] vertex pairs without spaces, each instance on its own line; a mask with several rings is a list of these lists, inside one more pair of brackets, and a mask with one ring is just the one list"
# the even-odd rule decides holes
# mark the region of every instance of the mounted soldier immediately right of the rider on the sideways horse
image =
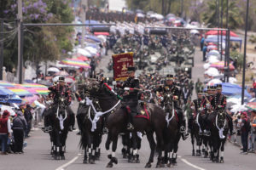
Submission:
[[180,133],[182,133],[183,140],[187,139],[189,133],[186,132],[186,122],[184,120],[183,111],[179,106],[179,97],[180,91],[179,89],[173,84],[174,77],[173,75],[166,76],[166,83],[164,87],[158,88],[156,91],[163,92],[164,94],[172,94],[172,98],[174,101],[174,108],[177,111],[178,116],[178,127],[180,128]]

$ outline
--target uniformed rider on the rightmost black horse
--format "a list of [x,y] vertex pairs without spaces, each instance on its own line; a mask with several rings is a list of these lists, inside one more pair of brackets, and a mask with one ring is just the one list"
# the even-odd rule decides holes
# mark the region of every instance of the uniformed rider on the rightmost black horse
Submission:
[[[214,95],[214,98],[211,101],[212,108],[213,108],[214,111],[219,111],[221,109],[225,110],[225,108],[226,108],[226,104],[227,104],[226,96],[224,96],[224,94],[221,94],[221,92],[222,92],[222,85],[218,84],[217,85],[217,92],[216,92],[216,94]],[[226,117],[228,119],[228,123],[229,123],[229,127],[230,127],[230,135],[233,135],[234,133],[233,133],[232,118],[229,114],[226,114]]]

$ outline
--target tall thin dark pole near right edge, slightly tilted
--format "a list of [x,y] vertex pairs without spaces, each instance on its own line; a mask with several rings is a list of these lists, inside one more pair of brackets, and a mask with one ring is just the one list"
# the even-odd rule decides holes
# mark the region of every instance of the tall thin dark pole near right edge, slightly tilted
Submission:
[[249,12],[249,0],[247,0],[247,15],[246,26],[244,33],[244,52],[243,52],[243,66],[242,66],[242,86],[241,86],[241,105],[244,103],[244,90],[245,90],[245,72],[246,72],[246,60],[247,60],[247,26],[248,26],[248,12]]

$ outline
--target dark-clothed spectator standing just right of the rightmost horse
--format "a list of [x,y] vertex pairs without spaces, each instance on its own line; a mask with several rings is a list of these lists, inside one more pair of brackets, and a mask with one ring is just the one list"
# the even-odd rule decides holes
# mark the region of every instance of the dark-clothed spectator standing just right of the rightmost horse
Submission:
[[242,144],[241,154],[243,155],[247,155],[249,131],[250,131],[250,122],[247,119],[247,112],[244,111],[241,113],[241,144]]

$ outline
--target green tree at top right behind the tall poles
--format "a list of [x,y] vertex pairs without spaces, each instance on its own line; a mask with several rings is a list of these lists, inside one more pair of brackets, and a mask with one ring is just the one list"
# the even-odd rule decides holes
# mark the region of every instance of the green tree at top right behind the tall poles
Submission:
[[[226,23],[226,10],[227,0],[223,0],[223,23]],[[241,16],[241,9],[237,5],[238,0],[229,1],[229,27],[236,29],[243,25],[243,18]],[[220,0],[221,2],[221,0]],[[221,4],[221,3],[220,3]],[[219,5],[219,16],[221,11],[221,5]],[[209,0],[207,2],[207,10],[203,13],[202,20],[210,27],[218,26],[218,17],[216,14],[216,1]]]

